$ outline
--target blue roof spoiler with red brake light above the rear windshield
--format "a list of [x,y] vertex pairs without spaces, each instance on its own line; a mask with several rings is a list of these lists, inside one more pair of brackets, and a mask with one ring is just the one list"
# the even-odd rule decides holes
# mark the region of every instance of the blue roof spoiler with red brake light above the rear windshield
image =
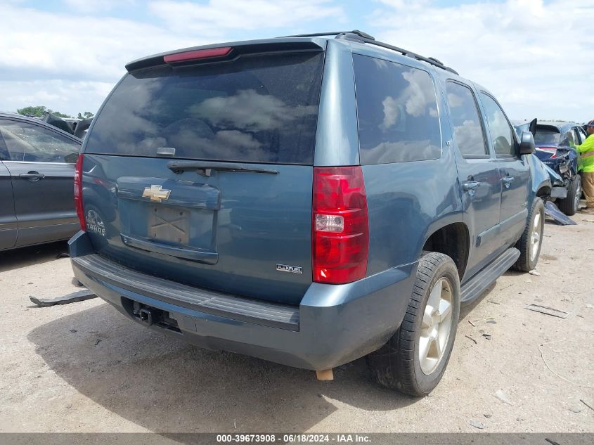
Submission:
[[159,65],[186,66],[235,60],[254,53],[285,53],[288,51],[324,51],[325,39],[268,39],[238,41],[226,44],[195,46],[167,53],[155,54],[127,63],[128,72]]

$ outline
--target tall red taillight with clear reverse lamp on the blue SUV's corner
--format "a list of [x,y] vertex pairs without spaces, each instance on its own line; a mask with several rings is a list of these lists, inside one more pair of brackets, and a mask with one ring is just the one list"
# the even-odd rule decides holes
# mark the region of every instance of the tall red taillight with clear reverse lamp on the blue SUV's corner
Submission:
[[367,198],[361,167],[314,167],[314,281],[365,277],[369,252]]

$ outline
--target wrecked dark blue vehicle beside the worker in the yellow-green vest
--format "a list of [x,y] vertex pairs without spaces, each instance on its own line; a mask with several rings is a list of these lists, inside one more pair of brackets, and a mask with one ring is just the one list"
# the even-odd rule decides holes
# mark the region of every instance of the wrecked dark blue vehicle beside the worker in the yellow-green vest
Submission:
[[555,202],[569,216],[578,211],[581,198],[581,162],[572,145],[579,145],[585,140],[586,132],[581,125],[574,122],[539,121],[536,125],[536,156],[562,177],[562,186],[567,188],[567,196]]

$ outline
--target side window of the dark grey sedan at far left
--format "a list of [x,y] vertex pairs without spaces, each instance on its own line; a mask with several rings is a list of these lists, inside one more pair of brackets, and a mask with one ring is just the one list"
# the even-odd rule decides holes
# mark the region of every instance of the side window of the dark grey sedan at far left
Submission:
[[1,120],[0,137],[12,161],[65,162],[67,155],[80,150],[75,141],[27,122]]

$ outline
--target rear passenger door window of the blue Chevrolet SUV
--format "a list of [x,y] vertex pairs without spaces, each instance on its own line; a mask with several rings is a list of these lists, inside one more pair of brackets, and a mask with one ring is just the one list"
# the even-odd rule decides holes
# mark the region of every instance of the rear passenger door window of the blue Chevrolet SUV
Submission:
[[489,156],[474,93],[456,82],[446,84],[454,140],[463,157]]

